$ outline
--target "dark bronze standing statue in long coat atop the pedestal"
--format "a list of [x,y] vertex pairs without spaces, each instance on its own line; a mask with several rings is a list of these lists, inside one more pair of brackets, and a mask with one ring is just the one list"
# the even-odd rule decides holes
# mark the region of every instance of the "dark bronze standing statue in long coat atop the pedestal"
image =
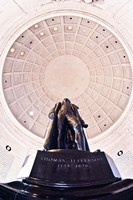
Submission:
[[78,106],[65,98],[55,104],[49,113],[52,124],[44,149],[78,149],[89,151],[83,128],[87,128],[78,112]]

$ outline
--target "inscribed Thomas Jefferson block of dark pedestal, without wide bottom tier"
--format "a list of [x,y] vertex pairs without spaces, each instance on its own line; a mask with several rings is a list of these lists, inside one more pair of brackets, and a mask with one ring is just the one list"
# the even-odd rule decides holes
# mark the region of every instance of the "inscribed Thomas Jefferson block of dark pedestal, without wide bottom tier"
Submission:
[[26,183],[49,187],[87,187],[120,180],[114,176],[104,152],[79,150],[38,151]]

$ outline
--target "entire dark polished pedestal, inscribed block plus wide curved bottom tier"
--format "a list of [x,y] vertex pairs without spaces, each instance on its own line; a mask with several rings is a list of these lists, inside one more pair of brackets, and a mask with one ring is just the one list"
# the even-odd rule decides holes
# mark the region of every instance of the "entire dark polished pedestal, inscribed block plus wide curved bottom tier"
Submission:
[[38,151],[29,178],[0,184],[0,200],[132,200],[133,180],[114,176],[104,152]]

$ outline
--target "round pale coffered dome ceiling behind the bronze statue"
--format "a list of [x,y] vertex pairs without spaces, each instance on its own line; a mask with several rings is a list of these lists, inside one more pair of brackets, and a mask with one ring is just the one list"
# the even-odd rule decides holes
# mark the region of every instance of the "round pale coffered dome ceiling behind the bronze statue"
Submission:
[[3,67],[3,91],[18,122],[42,138],[50,109],[70,98],[93,138],[125,111],[131,74],[124,47],[107,28],[87,18],[56,16],[34,24],[13,43]]

